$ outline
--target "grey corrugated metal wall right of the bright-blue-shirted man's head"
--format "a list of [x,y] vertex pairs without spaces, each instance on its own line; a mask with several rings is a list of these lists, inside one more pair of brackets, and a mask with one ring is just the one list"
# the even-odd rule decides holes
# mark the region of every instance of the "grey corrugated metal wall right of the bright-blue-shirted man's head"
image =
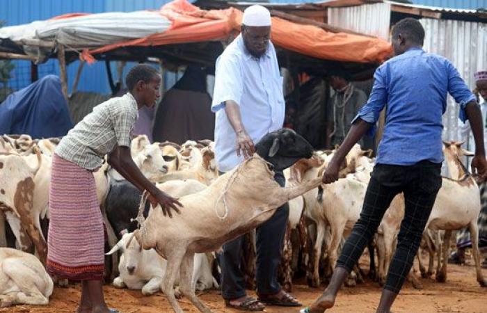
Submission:
[[[420,22],[426,33],[424,49],[448,58],[468,87],[473,89],[474,72],[487,69],[487,24],[438,19],[421,19]],[[443,138],[467,141],[467,138],[461,138],[460,123],[458,104],[448,96],[447,113],[443,115]]]

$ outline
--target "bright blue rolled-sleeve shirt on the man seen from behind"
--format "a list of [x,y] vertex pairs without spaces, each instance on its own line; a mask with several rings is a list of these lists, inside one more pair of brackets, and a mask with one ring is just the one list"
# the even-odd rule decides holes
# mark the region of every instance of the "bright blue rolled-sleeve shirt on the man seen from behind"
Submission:
[[441,163],[441,117],[447,109],[447,93],[460,104],[460,118],[465,121],[465,106],[475,97],[446,58],[412,48],[378,67],[369,100],[352,121],[360,117],[375,125],[386,106],[376,163]]

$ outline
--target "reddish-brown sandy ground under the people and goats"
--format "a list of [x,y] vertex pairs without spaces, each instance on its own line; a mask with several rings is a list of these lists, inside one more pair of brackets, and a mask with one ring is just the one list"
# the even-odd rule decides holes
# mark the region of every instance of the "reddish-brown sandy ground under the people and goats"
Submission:
[[[487,270],[484,270],[487,278]],[[430,312],[487,312],[487,288],[479,287],[473,266],[449,265],[447,282],[440,284],[432,279],[421,279],[424,289],[417,290],[407,283],[394,304],[394,313]],[[297,282],[294,296],[309,304],[319,296],[321,290],[312,289]],[[106,302],[124,313],[172,312],[162,294],[142,296],[140,291],[104,287]],[[381,288],[367,280],[358,287],[344,288],[337,303],[329,312],[375,312]],[[80,297],[79,285],[56,288],[47,306],[17,305],[1,309],[0,312],[74,312]],[[218,291],[201,294],[200,298],[214,312],[239,312],[225,308]],[[198,312],[188,300],[179,300],[185,312]],[[296,308],[267,307],[266,312],[298,312]]]

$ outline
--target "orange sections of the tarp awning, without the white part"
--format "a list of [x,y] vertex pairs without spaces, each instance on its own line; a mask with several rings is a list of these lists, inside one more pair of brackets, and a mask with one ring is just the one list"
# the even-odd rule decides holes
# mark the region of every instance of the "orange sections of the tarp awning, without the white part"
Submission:
[[[83,57],[127,46],[156,46],[208,40],[225,40],[239,31],[243,13],[235,8],[201,10],[186,0],[175,0],[161,8],[172,26],[163,33],[83,51]],[[317,26],[296,24],[272,17],[272,42],[283,49],[333,61],[381,63],[392,54],[390,43],[350,33],[331,33]]]

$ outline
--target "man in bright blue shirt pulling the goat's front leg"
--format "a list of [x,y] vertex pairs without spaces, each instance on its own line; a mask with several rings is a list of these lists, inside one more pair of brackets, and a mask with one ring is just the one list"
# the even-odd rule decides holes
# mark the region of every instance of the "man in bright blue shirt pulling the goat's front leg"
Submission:
[[397,249],[376,311],[390,312],[413,265],[441,187],[441,117],[446,110],[447,93],[460,104],[461,120],[468,119],[472,127],[476,143],[472,170],[477,170],[479,179],[486,178],[487,161],[479,105],[452,63],[423,51],[423,40],[424,29],[416,19],[402,19],[394,26],[392,47],[396,56],[376,70],[369,101],[353,120],[344,143],[326,168],[323,182],[335,182],[340,163],[367,131],[374,130],[385,106],[383,138],[360,219],[344,244],[330,284],[303,312],[321,313],[333,307],[338,289],[374,236],[385,210],[395,195],[404,193],[406,207]]

